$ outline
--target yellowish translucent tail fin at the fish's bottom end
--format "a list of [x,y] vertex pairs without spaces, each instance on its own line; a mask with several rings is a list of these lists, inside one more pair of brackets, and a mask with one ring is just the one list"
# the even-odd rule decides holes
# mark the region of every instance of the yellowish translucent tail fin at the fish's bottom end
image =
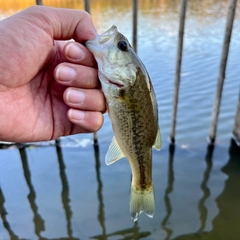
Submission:
[[131,186],[130,213],[135,222],[138,215],[145,212],[148,217],[153,217],[155,209],[153,185],[148,190],[135,190]]

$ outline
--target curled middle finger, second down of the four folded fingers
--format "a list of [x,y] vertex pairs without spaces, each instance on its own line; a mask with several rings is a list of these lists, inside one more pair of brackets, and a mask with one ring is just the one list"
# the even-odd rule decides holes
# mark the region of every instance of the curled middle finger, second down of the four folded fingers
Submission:
[[97,69],[78,64],[59,64],[55,68],[54,78],[58,83],[69,87],[86,89],[100,87]]

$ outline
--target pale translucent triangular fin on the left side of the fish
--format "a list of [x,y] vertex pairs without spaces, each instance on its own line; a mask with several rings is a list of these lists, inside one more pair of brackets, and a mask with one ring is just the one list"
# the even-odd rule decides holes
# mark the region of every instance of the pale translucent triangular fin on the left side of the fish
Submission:
[[119,148],[115,137],[113,137],[105,157],[105,163],[107,165],[110,165],[123,157],[125,156],[122,153],[121,149]]

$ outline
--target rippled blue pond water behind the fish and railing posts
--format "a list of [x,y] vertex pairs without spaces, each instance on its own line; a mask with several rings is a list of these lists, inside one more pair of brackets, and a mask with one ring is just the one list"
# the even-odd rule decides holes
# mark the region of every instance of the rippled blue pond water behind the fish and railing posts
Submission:
[[[177,145],[169,148],[179,1],[139,1],[138,54],[159,103],[163,148],[153,150],[156,212],[137,223],[129,215],[131,171],[126,159],[106,166],[112,138],[108,117],[92,135],[62,139],[55,146],[0,151],[0,239],[240,239],[240,151],[231,142],[240,76],[238,3],[217,145],[208,149],[227,2],[189,0],[184,39]],[[18,3],[18,4],[17,4]],[[0,3],[0,18],[34,1]],[[83,8],[81,1],[46,5]],[[115,24],[130,40],[131,1],[91,0],[101,33]]]

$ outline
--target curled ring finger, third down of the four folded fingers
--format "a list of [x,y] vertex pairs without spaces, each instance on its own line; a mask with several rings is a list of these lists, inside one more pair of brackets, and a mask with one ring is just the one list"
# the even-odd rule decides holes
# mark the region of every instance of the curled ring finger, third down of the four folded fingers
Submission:
[[67,88],[63,95],[65,103],[72,108],[105,112],[103,93],[97,89]]

